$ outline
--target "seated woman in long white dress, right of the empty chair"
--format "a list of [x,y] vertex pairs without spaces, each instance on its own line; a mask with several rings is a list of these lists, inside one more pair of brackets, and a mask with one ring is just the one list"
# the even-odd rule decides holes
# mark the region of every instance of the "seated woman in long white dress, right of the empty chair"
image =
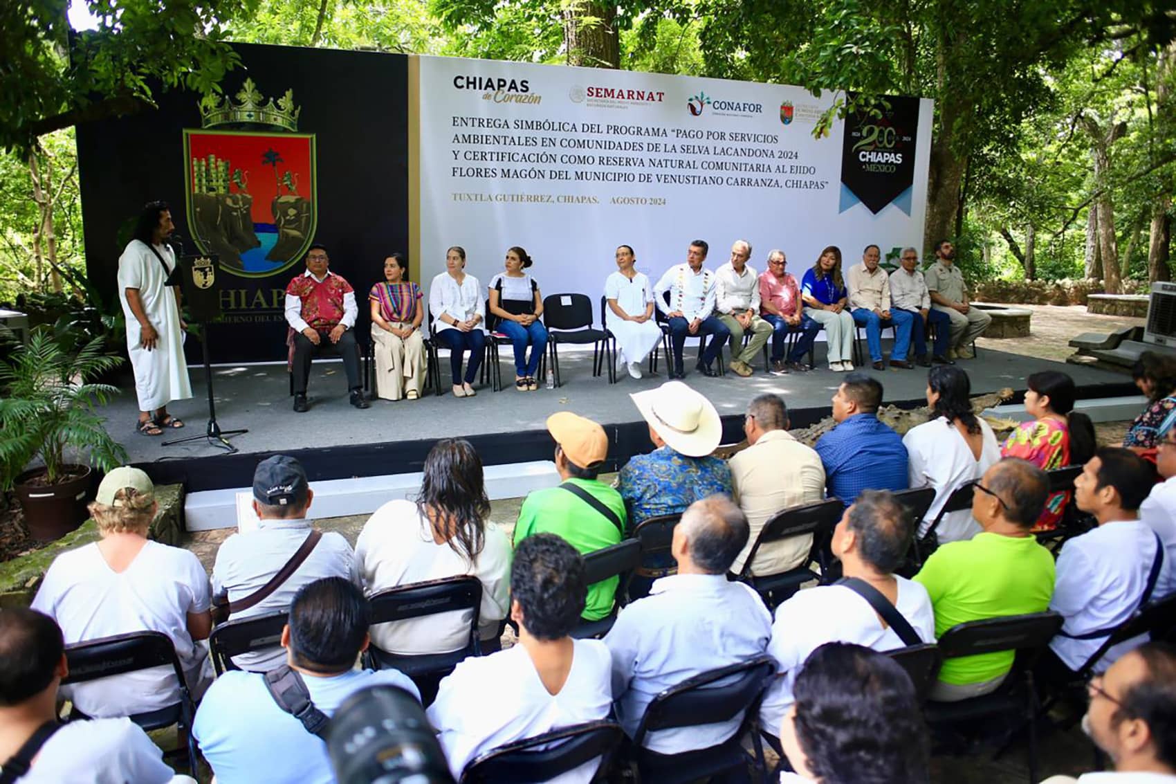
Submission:
[[641,363],[661,340],[661,327],[654,320],[654,292],[649,278],[634,268],[633,248],[616,248],[616,272],[604,281],[604,327],[616,335],[616,366],[623,363],[629,376],[641,378]]

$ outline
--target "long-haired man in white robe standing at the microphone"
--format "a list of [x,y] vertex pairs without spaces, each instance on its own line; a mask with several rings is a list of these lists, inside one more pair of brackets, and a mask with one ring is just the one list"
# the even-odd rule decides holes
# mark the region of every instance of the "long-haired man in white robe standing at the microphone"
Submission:
[[165,244],[175,226],[163,201],[143,207],[135,239],[119,257],[119,299],[127,319],[127,351],[139,397],[139,432],[159,436],[165,427],[183,427],[167,404],[192,397],[183,358],[180,287],[167,286],[175,254]]

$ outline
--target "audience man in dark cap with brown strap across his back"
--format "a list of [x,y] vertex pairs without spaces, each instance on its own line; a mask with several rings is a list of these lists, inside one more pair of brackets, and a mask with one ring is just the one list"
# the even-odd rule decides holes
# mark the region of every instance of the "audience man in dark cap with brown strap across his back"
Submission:
[[[323,577],[345,577],[360,584],[359,566],[347,539],[314,530],[314,521],[307,517],[313,500],[306,471],[295,458],[275,454],[258,464],[253,472],[258,527],[226,539],[213,564],[218,614],[227,610],[229,618],[239,620],[285,611],[300,587]],[[286,578],[275,583],[280,573]],[[242,653],[233,663],[242,670],[265,672],[283,660],[285,652],[274,647]]]

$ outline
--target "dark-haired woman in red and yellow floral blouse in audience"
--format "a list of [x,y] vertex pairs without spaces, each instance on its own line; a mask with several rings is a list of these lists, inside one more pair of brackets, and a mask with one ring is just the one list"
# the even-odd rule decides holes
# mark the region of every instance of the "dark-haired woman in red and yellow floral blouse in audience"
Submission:
[[[1025,413],[1033,417],[1009,433],[1001,457],[1029,460],[1043,471],[1083,465],[1095,453],[1095,426],[1090,417],[1074,411],[1074,379],[1058,371],[1041,371],[1025,379]],[[1070,493],[1060,490],[1045,499],[1034,533],[1053,531],[1062,519]]]

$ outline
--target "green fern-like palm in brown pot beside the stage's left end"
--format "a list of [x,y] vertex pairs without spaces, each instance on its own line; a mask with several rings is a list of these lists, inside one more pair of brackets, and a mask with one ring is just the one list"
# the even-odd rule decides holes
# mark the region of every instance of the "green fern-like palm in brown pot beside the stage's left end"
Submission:
[[88,383],[120,361],[102,351],[102,338],[67,353],[51,330],[39,327],[0,363],[0,489],[11,490],[16,476],[38,458],[45,464],[46,484],[56,484],[68,465],[67,451],[83,454],[102,471],[126,463],[126,450],[106,432],[94,410],[118,388]]

